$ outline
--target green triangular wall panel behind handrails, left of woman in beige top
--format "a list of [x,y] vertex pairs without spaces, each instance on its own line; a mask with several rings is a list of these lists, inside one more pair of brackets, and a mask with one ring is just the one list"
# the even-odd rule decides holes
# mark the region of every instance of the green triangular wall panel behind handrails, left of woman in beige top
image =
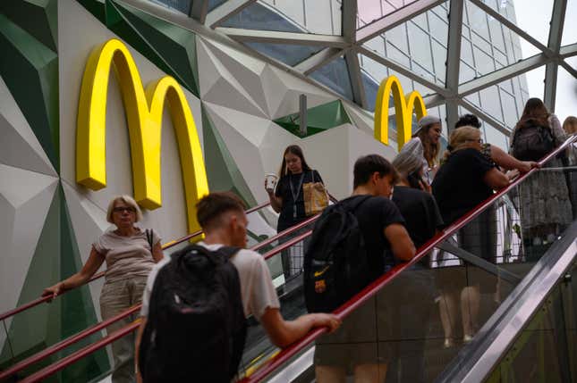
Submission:
[[[64,200],[64,191],[58,187],[47,213],[47,219],[38,238],[38,246],[17,305],[25,304],[40,296],[45,287],[67,278],[82,267],[81,255],[76,244],[72,223]],[[10,342],[4,344],[0,356],[0,369],[13,365],[47,346],[87,329],[98,321],[89,287],[72,290],[50,304],[38,306],[13,317],[8,331]],[[20,377],[46,367],[71,354],[82,346],[96,341],[99,334],[56,353],[23,371]],[[110,370],[105,350],[72,364],[46,381],[89,381]]]

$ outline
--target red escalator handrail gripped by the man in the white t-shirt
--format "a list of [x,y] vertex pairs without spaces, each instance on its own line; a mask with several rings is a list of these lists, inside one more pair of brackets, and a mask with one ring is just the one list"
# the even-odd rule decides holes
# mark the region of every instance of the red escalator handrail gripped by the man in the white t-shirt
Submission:
[[[569,137],[565,140],[564,144],[557,147],[551,154],[547,154],[541,161],[539,161],[539,167],[543,166],[549,160],[554,158],[557,154],[560,154],[564,149],[573,144],[577,140],[577,136]],[[369,286],[363,288],[361,292],[353,296],[349,301],[341,305],[335,310],[335,315],[343,320],[347,315],[356,310],[364,304],[370,297],[375,296],[377,292],[385,287],[391,280],[401,272],[405,271],[411,267],[414,263],[419,262],[422,257],[429,254],[434,247],[443,242],[446,238],[451,237],[454,233],[465,226],[467,223],[475,219],[481,212],[484,212],[491,204],[498,201],[499,198],[505,196],[513,187],[518,186],[524,179],[530,177],[532,173],[538,171],[537,168],[531,169],[529,172],[522,174],[517,179],[514,179],[509,186],[499,190],[493,196],[488,197],[487,200],[478,204],[470,212],[463,215],[459,220],[454,221],[452,225],[445,228],[442,232],[438,233],[435,237],[432,237],[425,245],[420,246],[419,251],[412,258],[410,262],[405,262],[396,265],[392,270],[387,271],[380,278],[376,279],[374,282],[369,284]],[[285,362],[289,362],[293,356],[301,352],[306,346],[309,346],[311,342],[317,339],[320,335],[327,332],[327,328],[318,328],[311,330],[305,337],[301,340],[293,343],[293,345],[284,348],[280,353],[276,354],[267,364],[263,365],[258,371],[252,374],[250,377],[245,377],[240,381],[240,383],[253,383],[259,382],[261,379],[266,378],[270,373],[275,371],[278,367],[282,366]]]

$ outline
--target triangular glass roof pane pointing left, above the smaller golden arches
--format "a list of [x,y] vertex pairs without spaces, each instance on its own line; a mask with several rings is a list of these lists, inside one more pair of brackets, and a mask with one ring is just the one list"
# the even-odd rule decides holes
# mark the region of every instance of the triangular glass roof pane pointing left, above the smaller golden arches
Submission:
[[444,5],[438,5],[415,16],[411,21],[387,30],[383,35],[364,43],[364,46],[432,82],[444,84],[448,37]]

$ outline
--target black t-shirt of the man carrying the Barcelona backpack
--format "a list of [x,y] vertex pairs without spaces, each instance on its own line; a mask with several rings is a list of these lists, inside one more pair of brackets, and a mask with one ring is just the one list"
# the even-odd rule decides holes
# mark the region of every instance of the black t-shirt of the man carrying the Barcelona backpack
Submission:
[[[351,196],[339,204],[354,204],[354,200],[361,197]],[[384,196],[373,196],[362,202],[355,209],[354,215],[365,240],[370,279],[374,280],[386,271],[386,265],[395,263],[391,244],[385,237],[385,229],[393,223],[404,224],[404,219],[393,201]]]

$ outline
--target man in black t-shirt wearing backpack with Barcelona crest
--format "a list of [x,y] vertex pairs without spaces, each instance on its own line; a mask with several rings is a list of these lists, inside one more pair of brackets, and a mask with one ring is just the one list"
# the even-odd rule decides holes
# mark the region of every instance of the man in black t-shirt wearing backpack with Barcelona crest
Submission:
[[[390,200],[397,174],[378,154],[354,164],[352,196],[329,206],[318,219],[304,260],[305,301],[310,312],[331,312],[387,271],[395,259],[410,261],[415,246],[403,216]],[[378,302],[369,299],[341,329],[318,339],[318,383],[384,381],[386,362],[378,352]],[[382,318],[381,318],[382,321]]]

